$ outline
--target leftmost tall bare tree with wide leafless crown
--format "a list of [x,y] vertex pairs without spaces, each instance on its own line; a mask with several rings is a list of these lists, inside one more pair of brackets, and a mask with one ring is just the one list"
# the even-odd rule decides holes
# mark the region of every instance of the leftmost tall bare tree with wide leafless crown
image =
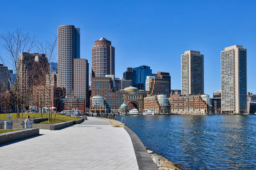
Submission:
[[[22,93],[20,90],[20,75],[19,75],[19,54],[22,52],[30,52],[35,45],[35,36],[31,37],[29,33],[24,33],[20,29],[13,32],[6,32],[6,34],[0,35],[1,47],[3,48],[4,58],[9,62],[8,66],[11,66],[14,73],[17,73],[10,88],[15,99],[17,107],[17,118],[20,117],[20,101],[22,99]],[[2,57],[1,57],[2,58]],[[2,59],[3,60],[3,59]],[[3,63],[4,64],[4,63]],[[6,64],[4,64],[6,66]]]

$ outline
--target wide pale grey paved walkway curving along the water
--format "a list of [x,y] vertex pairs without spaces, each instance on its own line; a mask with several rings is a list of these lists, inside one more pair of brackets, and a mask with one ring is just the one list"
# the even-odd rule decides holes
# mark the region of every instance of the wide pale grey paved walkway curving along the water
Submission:
[[82,124],[0,147],[0,169],[138,169],[124,128],[88,117]]

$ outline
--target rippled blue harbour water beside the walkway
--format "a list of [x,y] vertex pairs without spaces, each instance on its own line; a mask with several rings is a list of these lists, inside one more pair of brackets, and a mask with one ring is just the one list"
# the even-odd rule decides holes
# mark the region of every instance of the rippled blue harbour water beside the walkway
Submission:
[[256,169],[256,115],[125,119],[146,147],[187,169]]

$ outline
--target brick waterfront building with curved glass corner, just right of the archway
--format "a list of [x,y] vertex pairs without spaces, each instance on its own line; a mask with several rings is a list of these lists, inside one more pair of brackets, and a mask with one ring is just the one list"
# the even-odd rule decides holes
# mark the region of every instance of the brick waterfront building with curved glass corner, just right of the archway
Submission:
[[144,98],[144,110],[154,110],[155,114],[170,113],[170,104],[164,94],[148,96]]

